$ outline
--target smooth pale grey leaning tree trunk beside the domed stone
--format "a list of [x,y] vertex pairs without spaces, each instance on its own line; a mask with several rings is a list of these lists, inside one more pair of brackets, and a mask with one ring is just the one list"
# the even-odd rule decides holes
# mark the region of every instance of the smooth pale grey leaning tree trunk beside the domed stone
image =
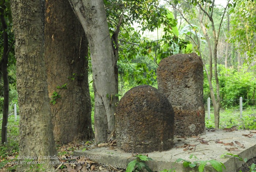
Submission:
[[115,57],[103,0],[69,0],[89,40],[94,81],[95,141],[106,141],[115,128]]

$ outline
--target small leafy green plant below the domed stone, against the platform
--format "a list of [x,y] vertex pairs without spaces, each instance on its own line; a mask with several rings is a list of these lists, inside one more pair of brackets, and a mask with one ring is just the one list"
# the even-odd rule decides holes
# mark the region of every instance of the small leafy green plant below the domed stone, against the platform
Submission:
[[152,172],[147,164],[145,164],[146,161],[152,160],[150,157],[147,157],[146,155],[135,155],[135,157],[137,158],[129,162],[125,172],[139,172],[142,171],[143,168],[148,172]]

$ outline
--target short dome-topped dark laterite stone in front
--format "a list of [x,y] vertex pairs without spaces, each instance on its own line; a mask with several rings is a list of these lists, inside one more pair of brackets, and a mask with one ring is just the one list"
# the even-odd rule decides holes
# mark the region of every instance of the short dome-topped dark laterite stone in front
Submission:
[[174,112],[168,99],[143,85],[125,93],[116,108],[117,148],[148,153],[173,147]]

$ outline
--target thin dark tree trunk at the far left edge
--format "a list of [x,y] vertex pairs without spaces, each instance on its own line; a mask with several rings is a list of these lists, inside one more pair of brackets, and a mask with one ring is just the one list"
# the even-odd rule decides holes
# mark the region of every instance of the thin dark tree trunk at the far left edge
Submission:
[[7,144],[7,124],[8,124],[8,112],[9,112],[9,81],[8,81],[8,72],[7,72],[7,64],[8,64],[8,34],[7,24],[4,19],[4,12],[6,6],[5,1],[1,4],[0,8],[0,18],[2,24],[2,32],[3,32],[3,55],[1,59],[1,74],[3,75],[4,81],[4,106],[3,106],[3,121],[2,121],[2,130],[1,130],[1,143]]

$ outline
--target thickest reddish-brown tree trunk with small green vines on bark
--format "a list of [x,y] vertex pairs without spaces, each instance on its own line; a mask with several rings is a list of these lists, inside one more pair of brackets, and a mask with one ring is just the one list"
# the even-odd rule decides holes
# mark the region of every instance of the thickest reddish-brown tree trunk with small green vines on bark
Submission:
[[83,27],[68,1],[46,0],[45,17],[49,97],[54,91],[61,96],[50,105],[54,139],[61,144],[91,139],[88,41]]

